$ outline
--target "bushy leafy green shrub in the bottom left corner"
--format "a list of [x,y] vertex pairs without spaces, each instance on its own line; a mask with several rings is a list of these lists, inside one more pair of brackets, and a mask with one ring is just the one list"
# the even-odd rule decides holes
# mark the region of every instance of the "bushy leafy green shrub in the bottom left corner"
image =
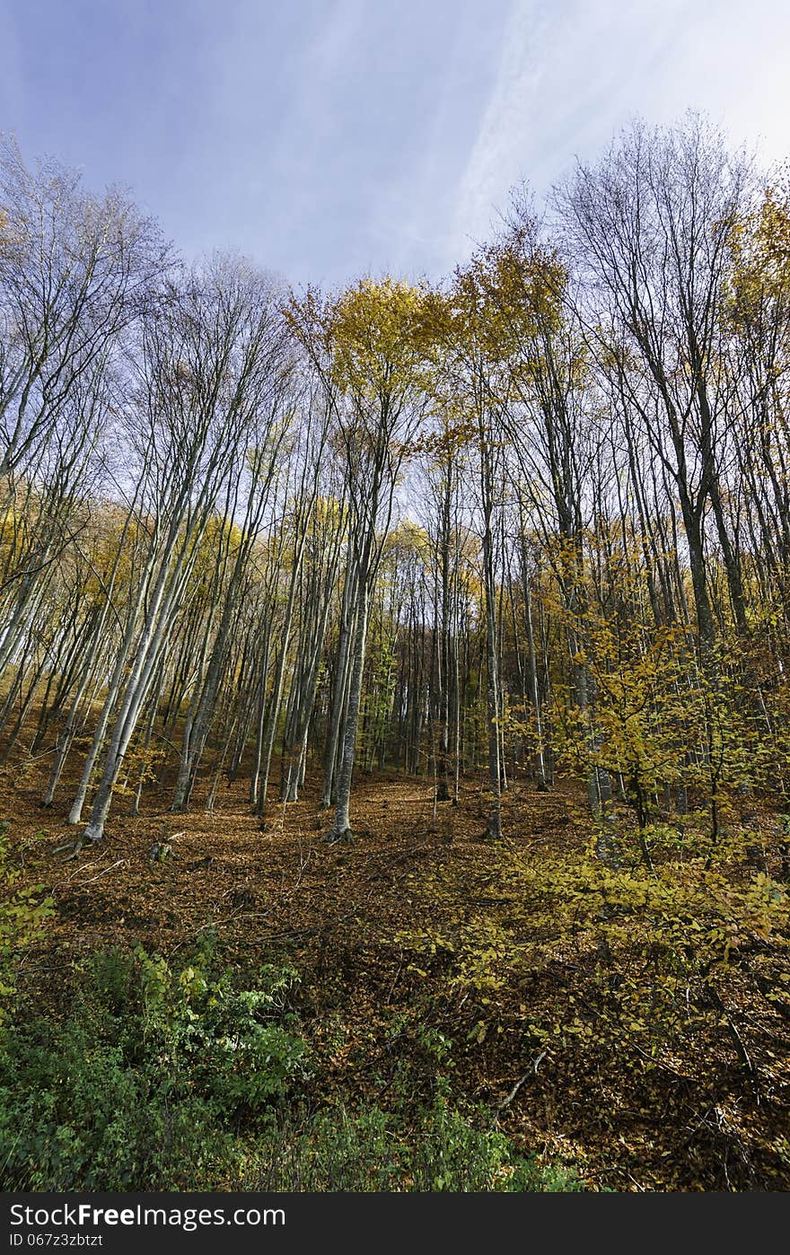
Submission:
[[15,1190],[216,1187],[234,1127],[304,1071],[289,970],[255,989],[211,975],[210,946],[173,969],[141,948],[95,955],[62,1023],[0,1043],[0,1176]]

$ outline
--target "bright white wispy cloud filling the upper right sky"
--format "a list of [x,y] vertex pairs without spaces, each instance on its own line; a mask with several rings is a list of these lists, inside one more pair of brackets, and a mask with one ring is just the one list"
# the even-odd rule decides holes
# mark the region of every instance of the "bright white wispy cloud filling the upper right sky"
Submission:
[[540,197],[641,115],[707,113],[767,164],[787,154],[786,0],[515,0],[456,197],[453,245],[468,254],[509,190]]

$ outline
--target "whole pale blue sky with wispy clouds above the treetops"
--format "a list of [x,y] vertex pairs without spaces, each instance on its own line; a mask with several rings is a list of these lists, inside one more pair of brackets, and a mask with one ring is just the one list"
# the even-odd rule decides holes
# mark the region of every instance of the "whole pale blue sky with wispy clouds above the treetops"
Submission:
[[0,131],[193,257],[437,277],[634,113],[790,154],[790,0],[0,0]]

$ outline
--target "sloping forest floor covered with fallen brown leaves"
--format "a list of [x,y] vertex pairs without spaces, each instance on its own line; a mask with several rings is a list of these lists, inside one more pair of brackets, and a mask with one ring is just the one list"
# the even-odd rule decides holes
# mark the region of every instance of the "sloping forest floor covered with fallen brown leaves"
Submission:
[[[69,860],[73,830],[39,808],[31,783],[1,782],[0,820],[13,865],[55,904],[23,956],[39,1008],[92,950],[139,941],[186,955],[212,930],[224,961],[299,973],[315,1101],[384,1107],[408,1088],[430,1102],[442,1074],[453,1098],[589,1188],[790,1187],[786,932],[757,921],[746,937],[741,912],[715,979],[707,960],[659,963],[654,902],[642,935],[612,889],[619,876],[647,904],[639,886],[657,872],[637,852],[593,884],[590,822],[570,784],[517,783],[505,840],[490,843],[471,784],[435,818],[430,782],[362,778],[354,843],[328,845],[315,791],[261,825],[240,783],[211,816],[171,814],[165,796],[137,818],[119,804],[106,840]],[[172,853],[152,861],[153,842]],[[736,894],[740,865],[716,884]],[[592,914],[590,894],[603,894]]]

